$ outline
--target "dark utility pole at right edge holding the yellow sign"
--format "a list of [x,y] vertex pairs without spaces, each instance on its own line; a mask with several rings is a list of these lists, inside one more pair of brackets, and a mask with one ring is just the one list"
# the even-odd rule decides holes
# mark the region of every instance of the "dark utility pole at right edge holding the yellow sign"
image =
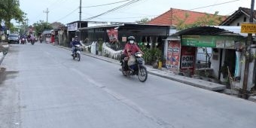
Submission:
[[[253,23],[254,0],[251,0],[251,11],[249,23]],[[248,39],[245,49],[245,71],[242,84],[242,98],[247,99],[248,70],[251,59],[252,33],[248,33]]]

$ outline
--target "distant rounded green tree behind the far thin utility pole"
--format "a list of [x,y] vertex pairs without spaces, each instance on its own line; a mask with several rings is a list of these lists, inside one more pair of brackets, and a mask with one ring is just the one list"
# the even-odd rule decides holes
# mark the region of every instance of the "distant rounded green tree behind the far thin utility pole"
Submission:
[[44,22],[43,20],[39,20],[37,23],[34,23],[33,26],[35,27],[35,34],[39,35],[39,33],[44,32],[44,30],[53,29],[49,23]]

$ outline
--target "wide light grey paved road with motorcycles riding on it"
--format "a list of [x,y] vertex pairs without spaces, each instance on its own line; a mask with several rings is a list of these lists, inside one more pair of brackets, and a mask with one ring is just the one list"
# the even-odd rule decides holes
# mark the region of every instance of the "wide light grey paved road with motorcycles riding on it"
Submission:
[[254,128],[256,103],[51,44],[12,44],[1,65],[1,128]]

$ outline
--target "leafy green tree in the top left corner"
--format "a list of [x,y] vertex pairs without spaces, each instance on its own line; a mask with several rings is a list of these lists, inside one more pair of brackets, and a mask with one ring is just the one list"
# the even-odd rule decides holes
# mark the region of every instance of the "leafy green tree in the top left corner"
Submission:
[[5,20],[8,29],[14,27],[11,20],[24,23],[24,15],[26,14],[20,10],[19,0],[0,0],[0,21]]

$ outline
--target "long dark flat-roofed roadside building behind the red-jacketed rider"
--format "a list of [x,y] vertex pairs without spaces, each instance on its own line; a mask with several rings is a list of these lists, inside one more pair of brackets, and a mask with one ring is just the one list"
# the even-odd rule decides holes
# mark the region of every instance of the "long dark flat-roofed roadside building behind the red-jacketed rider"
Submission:
[[120,23],[105,26],[91,26],[79,29],[85,35],[86,41],[90,42],[99,41],[108,42],[109,47],[113,50],[122,50],[126,44],[126,38],[130,35],[135,36],[136,42],[140,46],[158,47],[163,54],[164,39],[169,36],[169,32],[174,29],[173,26],[164,25],[149,25],[149,24],[136,24],[136,23]]

